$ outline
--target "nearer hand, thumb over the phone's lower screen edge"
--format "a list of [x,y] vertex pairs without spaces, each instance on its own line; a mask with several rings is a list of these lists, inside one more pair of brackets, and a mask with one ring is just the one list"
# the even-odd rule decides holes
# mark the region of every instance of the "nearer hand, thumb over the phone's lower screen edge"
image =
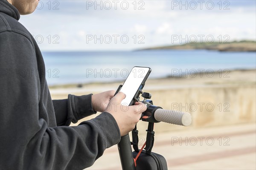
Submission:
[[141,113],[147,109],[146,105],[142,102],[136,102],[133,106],[121,105],[121,101],[124,98],[125,94],[119,92],[110,100],[105,110],[116,119],[121,136],[128,134],[134,129],[140,120]]

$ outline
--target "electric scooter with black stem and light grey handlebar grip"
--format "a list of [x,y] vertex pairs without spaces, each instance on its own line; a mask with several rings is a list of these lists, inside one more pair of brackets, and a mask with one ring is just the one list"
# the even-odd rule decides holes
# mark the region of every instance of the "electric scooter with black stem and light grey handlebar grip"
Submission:
[[[121,86],[122,85],[120,85],[119,88],[121,88]],[[192,123],[192,116],[189,113],[166,110],[159,106],[155,106],[153,105],[153,101],[150,100],[151,94],[145,92],[143,93],[141,90],[139,91],[139,94],[142,94],[142,97],[144,97],[144,100],[141,102],[147,106],[147,110],[143,112],[141,116],[142,121],[148,122],[148,130],[146,130],[148,132],[147,138],[145,144],[143,145],[143,147],[145,146],[144,153],[151,155],[151,150],[154,144],[154,123],[166,122],[175,125],[189,126]],[[134,98],[134,100],[139,102],[140,97],[139,95],[137,96],[138,97]],[[143,151],[143,148],[140,151],[138,149],[138,130],[136,126],[134,130],[132,130],[132,138],[133,140],[130,142],[130,137],[128,134],[122,136],[117,145],[123,170],[138,170],[136,169],[136,161],[140,156],[140,153]],[[131,145],[133,145],[135,151],[139,151],[136,158],[134,158]]]

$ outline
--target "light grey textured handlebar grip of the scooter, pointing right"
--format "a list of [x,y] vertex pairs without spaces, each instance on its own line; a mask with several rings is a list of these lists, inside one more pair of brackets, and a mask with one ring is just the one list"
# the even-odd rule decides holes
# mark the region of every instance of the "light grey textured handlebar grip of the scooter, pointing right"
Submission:
[[189,126],[192,122],[191,114],[166,109],[157,109],[154,112],[154,118],[160,122],[166,122],[182,126]]

